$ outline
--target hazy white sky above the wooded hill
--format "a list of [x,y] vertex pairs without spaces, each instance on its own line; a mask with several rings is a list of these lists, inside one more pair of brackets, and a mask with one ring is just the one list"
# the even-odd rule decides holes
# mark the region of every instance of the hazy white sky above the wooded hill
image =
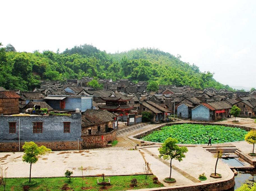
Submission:
[[0,1],[0,42],[17,51],[154,47],[229,85],[255,87],[256,1]]

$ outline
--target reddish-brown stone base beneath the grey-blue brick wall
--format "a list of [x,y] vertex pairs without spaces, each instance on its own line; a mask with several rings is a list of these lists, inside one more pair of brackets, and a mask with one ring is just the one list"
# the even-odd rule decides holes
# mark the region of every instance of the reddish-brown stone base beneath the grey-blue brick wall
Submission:
[[[51,150],[76,150],[78,148],[77,141],[34,141],[38,146],[44,145]],[[82,140],[79,140],[79,149],[81,149]],[[23,151],[24,142],[20,142],[20,151]],[[10,141],[0,143],[0,152],[17,152],[19,151],[19,142]]]

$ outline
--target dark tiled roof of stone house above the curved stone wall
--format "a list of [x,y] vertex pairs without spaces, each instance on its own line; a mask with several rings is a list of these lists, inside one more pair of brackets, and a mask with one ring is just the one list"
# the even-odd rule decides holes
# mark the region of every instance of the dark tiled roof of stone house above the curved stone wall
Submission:
[[82,114],[81,125],[82,127],[89,127],[92,125],[100,125],[114,121],[116,116],[106,110],[86,110]]

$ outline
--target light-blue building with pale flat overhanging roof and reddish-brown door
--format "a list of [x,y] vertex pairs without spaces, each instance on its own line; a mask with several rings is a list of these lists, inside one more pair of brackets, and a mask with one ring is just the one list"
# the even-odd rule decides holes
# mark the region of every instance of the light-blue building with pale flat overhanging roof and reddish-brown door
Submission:
[[49,95],[45,101],[54,110],[75,111],[79,108],[81,112],[93,108],[93,96],[70,96],[70,95]]

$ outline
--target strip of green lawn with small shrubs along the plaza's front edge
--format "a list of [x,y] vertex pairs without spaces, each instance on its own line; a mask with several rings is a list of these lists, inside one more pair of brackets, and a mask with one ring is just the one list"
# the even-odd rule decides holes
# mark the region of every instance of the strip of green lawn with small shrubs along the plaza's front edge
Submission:
[[[163,184],[153,183],[154,175],[149,175],[147,178],[148,185],[145,185],[145,175],[133,175],[133,176],[111,176],[105,177],[110,178],[110,186],[106,186],[108,191],[117,191],[117,190],[130,190],[130,189],[142,189],[142,188],[155,188],[163,187]],[[84,177],[84,190],[98,191],[101,190],[101,185],[97,185],[97,178],[101,177]],[[130,187],[131,180],[137,179],[137,186],[134,188]],[[68,179],[65,177],[57,178],[33,178],[38,183],[34,186],[30,186],[29,191],[59,191],[64,184],[72,188],[74,191],[80,191],[82,187],[82,178],[71,178],[71,182],[68,183]],[[28,181],[28,178],[7,178],[6,181],[6,190],[21,191],[23,190],[22,183]],[[70,190],[72,190],[70,189]],[[3,186],[0,186],[0,190],[4,190]]]

